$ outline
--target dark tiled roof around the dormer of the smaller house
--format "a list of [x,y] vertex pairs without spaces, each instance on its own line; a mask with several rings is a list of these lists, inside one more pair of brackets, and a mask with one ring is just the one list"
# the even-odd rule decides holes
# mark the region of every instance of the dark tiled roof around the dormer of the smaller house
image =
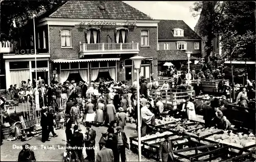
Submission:
[[[184,37],[175,37],[174,29],[183,29]],[[158,23],[158,39],[201,39],[183,20],[160,20]]]

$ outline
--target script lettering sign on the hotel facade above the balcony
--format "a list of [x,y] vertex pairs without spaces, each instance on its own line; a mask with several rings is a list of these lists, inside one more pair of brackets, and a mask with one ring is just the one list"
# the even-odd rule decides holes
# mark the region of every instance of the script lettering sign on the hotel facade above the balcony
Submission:
[[90,20],[89,22],[82,21],[79,25],[82,26],[136,26],[137,20],[128,21],[125,20],[124,22],[115,22],[115,21],[95,21]]

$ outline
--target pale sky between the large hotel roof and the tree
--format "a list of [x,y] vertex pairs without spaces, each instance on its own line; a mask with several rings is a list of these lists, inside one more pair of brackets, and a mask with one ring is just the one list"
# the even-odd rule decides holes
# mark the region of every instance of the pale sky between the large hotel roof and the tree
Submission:
[[197,24],[199,16],[192,16],[189,7],[192,1],[123,1],[154,19],[183,20],[191,29]]

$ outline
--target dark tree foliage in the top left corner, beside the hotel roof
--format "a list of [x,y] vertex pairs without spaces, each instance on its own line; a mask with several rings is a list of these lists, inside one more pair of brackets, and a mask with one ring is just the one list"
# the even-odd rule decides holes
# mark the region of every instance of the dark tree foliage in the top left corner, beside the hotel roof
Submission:
[[[23,27],[33,18],[52,8],[58,7],[63,1],[1,1],[1,39],[17,40],[18,28]],[[17,28],[14,26],[16,25]]]

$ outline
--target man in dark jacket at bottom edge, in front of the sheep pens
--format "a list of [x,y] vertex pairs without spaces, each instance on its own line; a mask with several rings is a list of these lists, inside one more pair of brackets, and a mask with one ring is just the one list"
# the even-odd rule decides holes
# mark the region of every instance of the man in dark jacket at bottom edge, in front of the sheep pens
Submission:
[[168,140],[168,136],[164,136],[165,141],[161,142],[158,150],[159,161],[174,161],[172,142]]

